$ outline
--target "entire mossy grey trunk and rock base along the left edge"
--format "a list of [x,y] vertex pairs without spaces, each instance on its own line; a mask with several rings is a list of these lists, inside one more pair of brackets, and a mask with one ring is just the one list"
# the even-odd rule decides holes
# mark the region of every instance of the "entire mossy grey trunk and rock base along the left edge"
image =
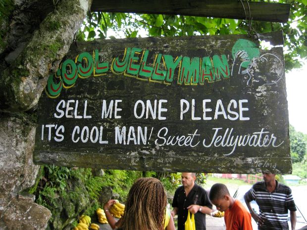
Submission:
[[[21,194],[32,160],[33,110],[73,42],[92,0],[5,0],[0,12],[0,230],[43,230],[48,209]],[[25,112],[27,111],[27,112]]]

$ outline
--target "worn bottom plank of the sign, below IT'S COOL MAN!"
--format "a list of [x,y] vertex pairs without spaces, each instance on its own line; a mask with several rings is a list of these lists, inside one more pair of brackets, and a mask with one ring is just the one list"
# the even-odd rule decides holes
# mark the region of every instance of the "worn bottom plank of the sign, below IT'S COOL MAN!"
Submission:
[[[191,157],[167,154],[163,157],[116,154],[82,154],[78,152],[40,152],[34,156],[36,163],[54,164],[66,167],[103,168],[120,170],[164,171],[164,172],[206,172],[255,174],[268,169],[276,174],[291,172],[291,157]],[[89,162],[91,164],[89,165]],[[125,164],[123,164],[125,162]],[[212,164],[212,162],[216,162]],[[242,164],[244,162],[244,164]],[[182,167],[184,165],[184,168]],[[248,165],[248,167],[247,167]],[[235,168],[235,170],[232,170]]]

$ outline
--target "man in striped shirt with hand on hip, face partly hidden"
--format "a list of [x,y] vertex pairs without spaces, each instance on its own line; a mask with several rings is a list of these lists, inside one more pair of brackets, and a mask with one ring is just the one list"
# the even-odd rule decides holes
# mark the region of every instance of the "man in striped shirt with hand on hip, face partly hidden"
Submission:
[[[275,174],[262,172],[263,182],[258,182],[244,195],[244,199],[258,230],[288,230],[288,210],[290,210],[291,229],[295,230],[296,205],[291,189],[278,183]],[[250,202],[256,200],[260,214],[256,214]]]

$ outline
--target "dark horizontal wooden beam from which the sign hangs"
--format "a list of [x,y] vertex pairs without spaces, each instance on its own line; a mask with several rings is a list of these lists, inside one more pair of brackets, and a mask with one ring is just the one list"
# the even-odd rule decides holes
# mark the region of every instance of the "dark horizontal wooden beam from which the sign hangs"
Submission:
[[[248,5],[243,1],[247,16]],[[250,1],[253,20],[287,22],[290,4]],[[239,0],[93,0],[92,11],[245,19]]]

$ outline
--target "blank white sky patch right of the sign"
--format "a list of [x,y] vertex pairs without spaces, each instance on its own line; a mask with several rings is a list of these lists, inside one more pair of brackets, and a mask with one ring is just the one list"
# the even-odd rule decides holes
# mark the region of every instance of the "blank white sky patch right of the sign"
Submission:
[[307,134],[307,63],[286,73],[289,122],[296,131]]

